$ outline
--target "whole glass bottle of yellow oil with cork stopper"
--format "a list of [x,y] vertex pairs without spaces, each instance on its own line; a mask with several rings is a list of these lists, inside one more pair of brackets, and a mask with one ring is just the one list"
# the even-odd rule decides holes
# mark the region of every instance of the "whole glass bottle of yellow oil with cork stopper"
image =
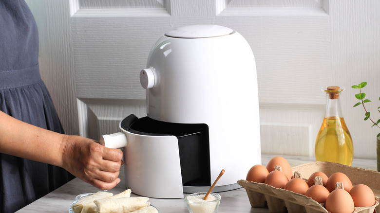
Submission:
[[344,88],[331,86],[322,90],[326,92],[326,111],[315,142],[315,159],[351,165],[354,145],[340,104]]

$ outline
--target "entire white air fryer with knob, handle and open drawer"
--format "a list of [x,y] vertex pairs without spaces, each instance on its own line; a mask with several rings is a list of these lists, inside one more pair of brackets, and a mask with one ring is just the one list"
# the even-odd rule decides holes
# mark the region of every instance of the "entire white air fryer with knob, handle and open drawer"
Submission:
[[162,35],[140,72],[147,117],[104,135],[124,147],[126,187],[137,195],[182,198],[239,188],[261,164],[256,66],[249,44],[227,27],[192,25]]

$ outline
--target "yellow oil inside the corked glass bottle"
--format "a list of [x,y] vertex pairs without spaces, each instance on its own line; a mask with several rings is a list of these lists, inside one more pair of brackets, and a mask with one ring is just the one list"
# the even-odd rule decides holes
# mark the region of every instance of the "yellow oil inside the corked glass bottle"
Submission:
[[354,145],[343,118],[324,118],[315,142],[315,159],[351,165]]

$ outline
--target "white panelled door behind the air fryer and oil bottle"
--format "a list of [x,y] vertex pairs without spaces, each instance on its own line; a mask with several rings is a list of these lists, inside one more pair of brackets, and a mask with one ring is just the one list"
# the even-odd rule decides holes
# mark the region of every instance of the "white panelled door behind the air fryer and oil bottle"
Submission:
[[354,156],[376,156],[379,131],[352,108],[351,86],[368,82],[375,116],[378,0],[27,2],[38,23],[41,74],[69,134],[98,139],[131,113],[145,116],[139,71],[156,39],[184,25],[217,24],[242,34],[255,55],[263,153],[313,156],[325,105],[320,89],[340,85]]

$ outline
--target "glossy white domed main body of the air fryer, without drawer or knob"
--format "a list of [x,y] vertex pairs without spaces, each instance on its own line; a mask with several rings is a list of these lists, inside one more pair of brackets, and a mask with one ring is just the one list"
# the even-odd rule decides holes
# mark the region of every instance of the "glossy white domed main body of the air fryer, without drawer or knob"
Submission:
[[147,68],[155,71],[150,118],[209,126],[210,184],[222,169],[216,186],[236,184],[261,164],[255,59],[242,35],[215,25],[173,30],[154,44]]

